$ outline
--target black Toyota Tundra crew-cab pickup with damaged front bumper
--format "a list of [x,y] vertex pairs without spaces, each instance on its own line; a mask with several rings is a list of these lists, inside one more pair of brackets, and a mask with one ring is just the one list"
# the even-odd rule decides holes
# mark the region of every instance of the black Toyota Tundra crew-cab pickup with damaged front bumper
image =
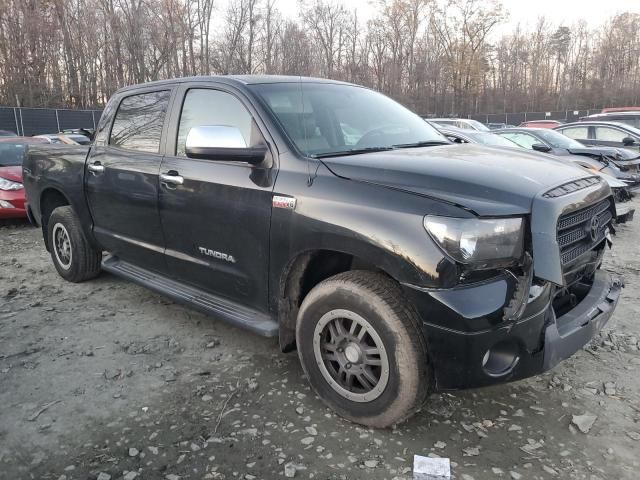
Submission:
[[29,149],[28,212],[55,268],[101,270],[297,348],[340,415],[386,427],[431,391],[543,372],[622,282],[589,172],[453,146],[372,90],[197,77],[118,91],[91,147]]

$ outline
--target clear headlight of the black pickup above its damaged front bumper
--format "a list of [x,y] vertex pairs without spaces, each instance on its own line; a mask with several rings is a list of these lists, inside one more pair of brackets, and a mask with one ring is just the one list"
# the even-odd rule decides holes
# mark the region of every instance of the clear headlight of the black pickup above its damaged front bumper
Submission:
[[424,228],[457,262],[475,268],[509,265],[522,256],[522,218],[454,218],[427,215]]

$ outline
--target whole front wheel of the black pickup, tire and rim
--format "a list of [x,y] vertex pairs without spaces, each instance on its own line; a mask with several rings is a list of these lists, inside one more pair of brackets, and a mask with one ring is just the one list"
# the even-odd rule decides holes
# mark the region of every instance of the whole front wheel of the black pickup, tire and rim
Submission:
[[426,398],[419,319],[399,285],[382,274],[345,272],[314,287],[300,307],[296,341],[311,386],[348,420],[389,427]]

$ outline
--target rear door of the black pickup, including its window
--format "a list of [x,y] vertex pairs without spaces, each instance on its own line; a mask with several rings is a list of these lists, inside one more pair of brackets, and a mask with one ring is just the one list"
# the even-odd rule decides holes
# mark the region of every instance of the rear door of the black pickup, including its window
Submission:
[[86,196],[100,244],[122,260],[166,273],[158,212],[158,174],[171,90],[119,99],[99,132],[85,173]]

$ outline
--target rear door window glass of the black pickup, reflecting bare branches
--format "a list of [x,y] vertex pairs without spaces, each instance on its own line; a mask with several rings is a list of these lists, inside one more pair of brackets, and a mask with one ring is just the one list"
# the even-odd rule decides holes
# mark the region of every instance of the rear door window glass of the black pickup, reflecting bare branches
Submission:
[[124,98],[111,127],[109,144],[128,150],[158,153],[170,96],[171,92],[165,90]]

